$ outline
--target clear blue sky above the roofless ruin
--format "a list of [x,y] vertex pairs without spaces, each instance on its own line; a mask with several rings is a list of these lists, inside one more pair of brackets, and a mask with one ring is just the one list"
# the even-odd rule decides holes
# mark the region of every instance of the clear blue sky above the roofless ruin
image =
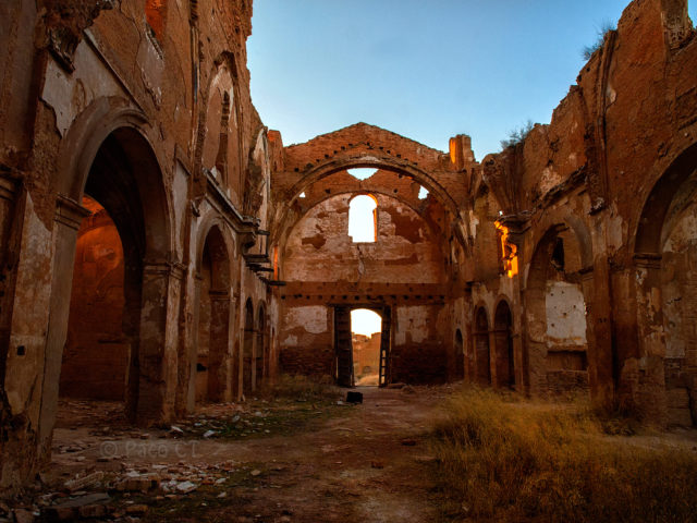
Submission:
[[[697,19],[697,0],[689,14]],[[548,123],[627,0],[254,0],[252,96],[283,143],[363,121],[478,160]]]

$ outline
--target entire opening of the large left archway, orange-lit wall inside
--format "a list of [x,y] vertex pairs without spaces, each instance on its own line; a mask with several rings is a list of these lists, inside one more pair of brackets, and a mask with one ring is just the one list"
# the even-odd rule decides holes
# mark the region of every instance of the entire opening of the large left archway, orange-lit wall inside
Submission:
[[[68,183],[75,187],[74,181]],[[74,391],[73,368],[82,358],[80,379],[97,384],[89,386],[89,396],[95,397],[98,382],[107,379],[98,367],[113,357],[118,363],[107,376],[113,385],[101,389],[110,388],[115,398],[121,394],[115,384],[123,380],[125,410],[132,421],[162,418],[173,410],[175,386],[163,381],[166,367],[176,363],[164,357],[170,272],[162,272],[159,263],[169,258],[170,228],[161,171],[147,141],[133,127],[111,132],[98,146],[78,191],[89,216],[78,233],[77,256],[72,258],[72,289],[78,294],[71,296],[68,313],[72,338],[66,337],[65,375],[60,380],[56,376],[56,382],[66,392]],[[66,250],[68,245],[61,244]],[[57,257],[59,266],[69,259],[68,252],[59,251]],[[85,293],[94,306],[85,307],[77,297]],[[81,338],[81,331],[89,336]],[[84,343],[78,360],[75,343]]]

